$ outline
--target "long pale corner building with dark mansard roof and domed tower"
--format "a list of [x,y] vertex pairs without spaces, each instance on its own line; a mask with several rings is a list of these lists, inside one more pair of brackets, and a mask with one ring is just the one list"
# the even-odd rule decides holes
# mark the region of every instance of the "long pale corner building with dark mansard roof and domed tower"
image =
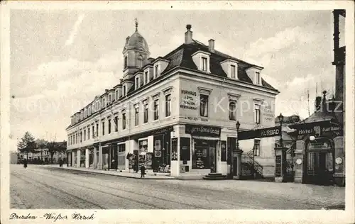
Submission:
[[[236,121],[241,131],[275,125],[278,91],[263,79],[263,67],[215,50],[214,40],[194,40],[190,25],[185,43],[151,58],[136,23],[122,53],[119,84],[71,117],[69,166],[128,171],[145,164],[148,172],[173,177],[229,174]],[[274,142],[256,141],[256,159],[273,176]],[[256,141],[240,142],[242,150],[253,150]]]

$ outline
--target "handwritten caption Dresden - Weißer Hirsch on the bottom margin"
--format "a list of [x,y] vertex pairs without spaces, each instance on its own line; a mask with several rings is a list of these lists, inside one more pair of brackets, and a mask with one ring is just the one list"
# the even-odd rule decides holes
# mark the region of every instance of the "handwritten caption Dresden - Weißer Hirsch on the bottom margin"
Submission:
[[62,213],[44,213],[43,215],[39,215],[39,216],[31,215],[31,213],[28,213],[26,215],[11,213],[10,220],[44,219],[44,220],[52,220],[53,222],[57,220],[94,220],[95,219],[94,213],[91,214],[72,213],[70,215],[65,215]]

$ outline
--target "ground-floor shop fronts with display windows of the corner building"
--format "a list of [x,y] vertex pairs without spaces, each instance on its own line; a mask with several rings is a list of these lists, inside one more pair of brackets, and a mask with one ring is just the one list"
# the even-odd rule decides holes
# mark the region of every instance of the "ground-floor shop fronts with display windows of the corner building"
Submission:
[[[67,151],[67,164],[88,169],[139,171],[144,165],[153,172],[204,176],[241,172],[241,166],[230,170],[236,147],[236,130],[178,124],[138,135],[95,142],[89,147]],[[238,159],[234,158],[234,164]]]

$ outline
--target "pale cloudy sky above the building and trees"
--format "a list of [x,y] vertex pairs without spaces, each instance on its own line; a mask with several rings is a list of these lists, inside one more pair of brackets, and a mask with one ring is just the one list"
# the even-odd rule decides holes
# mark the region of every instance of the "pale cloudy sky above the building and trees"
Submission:
[[11,10],[12,140],[66,140],[70,116],[119,84],[135,18],[151,57],[181,45],[191,24],[195,40],[263,66],[280,91],[275,116],[307,118],[316,89],[334,93],[332,11]]

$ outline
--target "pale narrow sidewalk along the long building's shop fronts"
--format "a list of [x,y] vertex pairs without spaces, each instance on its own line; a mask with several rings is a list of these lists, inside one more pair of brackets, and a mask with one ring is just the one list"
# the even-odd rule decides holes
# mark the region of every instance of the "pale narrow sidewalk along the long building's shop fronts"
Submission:
[[[71,169],[71,170],[77,170],[80,172],[89,172],[89,173],[97,173],[97,174],[107,174],[107,175],[112,175],[112,176],[118,176],[118,177],[127,177],[127,178],[136,178],[136,179],[141,179],[141,172],[134,172],[131,170],[131,172],[127,172],[125,170],[122,170],[122,172],[119,171],[114,171],[114,170],[99,170],[99,169],[89,169],[89,168],[84,168],[84,167],[67,167],[66,164],[63,164],[63,167],[60,168],[58,164],[48,164],[48,165],[43,165],[43,167],[50,167],[50,168],[55,168],[55,169]],[[175,179],[174,177],[168,176],[169,174],[157,174],[154,175],[153,172],[150,170],[146,171],[146,177],[144,179]]]

